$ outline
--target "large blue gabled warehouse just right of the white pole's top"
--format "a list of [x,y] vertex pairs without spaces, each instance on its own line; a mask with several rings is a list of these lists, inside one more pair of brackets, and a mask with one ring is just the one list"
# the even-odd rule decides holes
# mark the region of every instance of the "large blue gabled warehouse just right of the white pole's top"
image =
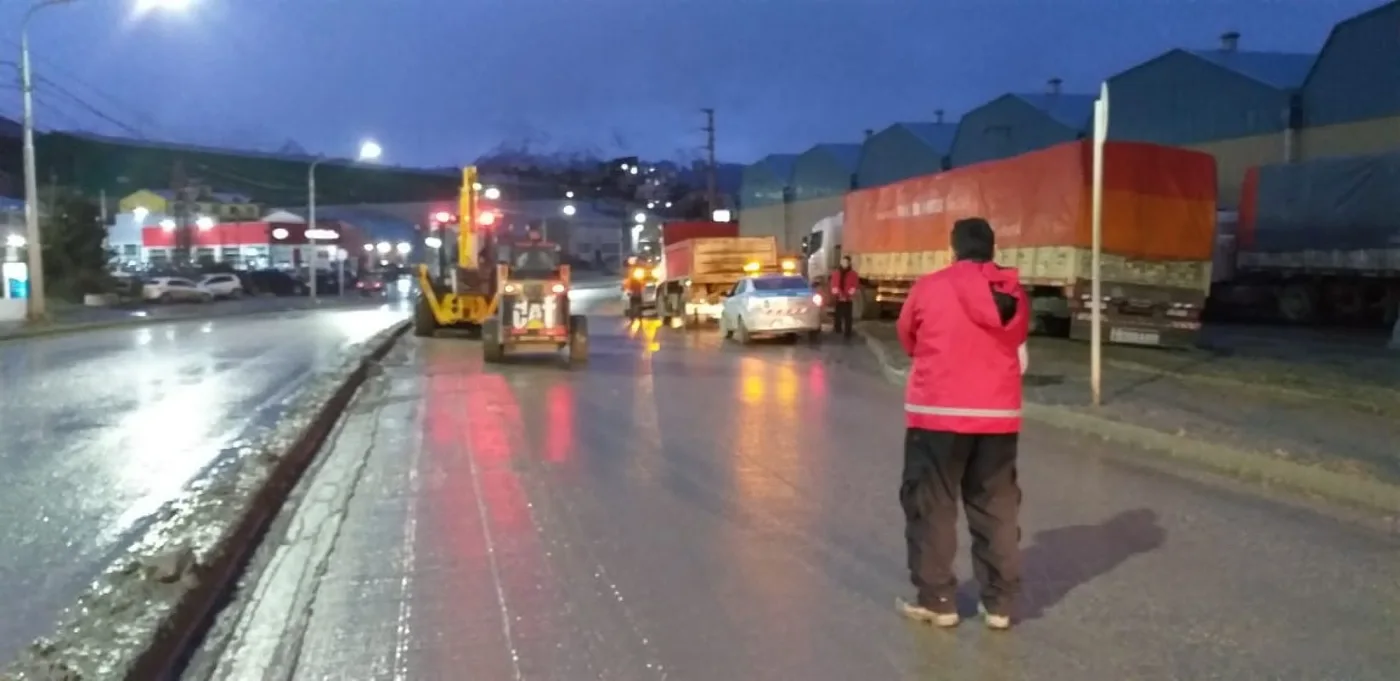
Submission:
[[1315,56],[1239,49],[1173,49],[1109,78],[1109,137],[1207,151],[1219,203],[1235,207],[1245,171],[1296,158],[1298,88]]

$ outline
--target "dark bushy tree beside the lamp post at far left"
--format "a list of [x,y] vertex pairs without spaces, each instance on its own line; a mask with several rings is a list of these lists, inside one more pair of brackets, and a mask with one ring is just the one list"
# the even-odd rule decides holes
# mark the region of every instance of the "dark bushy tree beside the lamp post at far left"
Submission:
[[106,226],[97,202],[59,189],[48,205],[43,227],[43,276],[52,296],[80,300],[111,287],[106,273]]

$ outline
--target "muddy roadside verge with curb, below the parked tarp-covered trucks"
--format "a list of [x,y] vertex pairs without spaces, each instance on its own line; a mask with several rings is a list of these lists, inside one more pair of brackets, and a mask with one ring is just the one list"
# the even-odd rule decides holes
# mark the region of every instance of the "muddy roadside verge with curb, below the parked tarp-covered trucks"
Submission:
[[[860,329],[886,376],[902,381],[909,357],[890,325],[867,324]],[[1103,404],[1093,408],[1082,357],[1086,348],[1081,343],[1067,356],[1054,343],[1065,345],[1051,342],[1046,350],[1047,343],[1032,343],[1025,381],[1028,418],[1149,447],[1242,478],[1400,510],[1392,509],[1400,504],[1400,451],[1394,446],[1400,426],[1390,416],[1400,413],[1400,392],[1372,383],[1373,394],[1341,399],[1326,388],[1327,381],[1340,381],[1337,374],[1305,362],[1294,371],[1292,385],[1308,390],[1252,381],[1254,366],[1247,359],[1219,359],[1217,376],[1228,378],[1217,380],[1200,380],[1187,369],[1124,369],[1106,359]],[[1158,362],[1183,362],[1165,352],[1127,350],[1159,355],[1163,359]],[[1240,364],[1243,369],[1236,369]]]

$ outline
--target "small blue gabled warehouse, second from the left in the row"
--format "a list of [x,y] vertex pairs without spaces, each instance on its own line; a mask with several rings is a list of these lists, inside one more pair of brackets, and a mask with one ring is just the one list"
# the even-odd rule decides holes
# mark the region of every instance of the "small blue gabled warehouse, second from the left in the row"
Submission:
[[792,163],[792,202],[788,205],[788,228],[778,238],[778,248],[795,254],[802,237],[823,217],[844,209],[846,192],[853,189],[855,168],[861,163],[861,144],[818,144]]

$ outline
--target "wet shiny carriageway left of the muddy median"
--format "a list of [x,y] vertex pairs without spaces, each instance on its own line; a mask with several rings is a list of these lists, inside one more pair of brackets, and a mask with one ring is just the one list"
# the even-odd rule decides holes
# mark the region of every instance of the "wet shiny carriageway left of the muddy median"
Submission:
[[405,312],[181,321],[0,343],[0,659],[48,633],[153,513]]

